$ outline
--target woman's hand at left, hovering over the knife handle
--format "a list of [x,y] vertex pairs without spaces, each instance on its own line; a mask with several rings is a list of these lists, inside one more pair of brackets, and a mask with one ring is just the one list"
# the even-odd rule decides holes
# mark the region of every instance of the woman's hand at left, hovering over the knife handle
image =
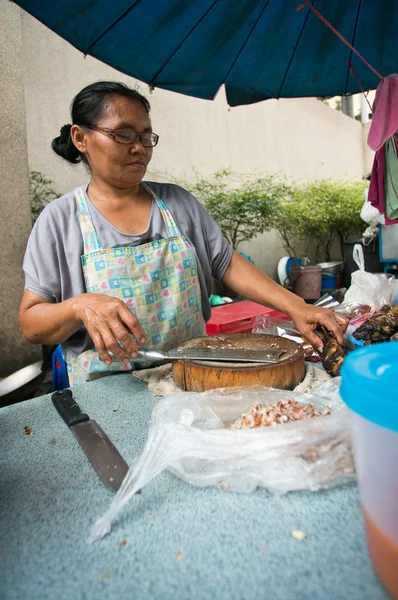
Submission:
[[[137,356],[137,344],[145,343],[145,332],[137,317],[121,300],[104,294],[81,294],[74,298],[76,316],[87,329],[100,359],[112,363],[112,353],[122,362]],[[122,344],[122,346],[120,345]]]

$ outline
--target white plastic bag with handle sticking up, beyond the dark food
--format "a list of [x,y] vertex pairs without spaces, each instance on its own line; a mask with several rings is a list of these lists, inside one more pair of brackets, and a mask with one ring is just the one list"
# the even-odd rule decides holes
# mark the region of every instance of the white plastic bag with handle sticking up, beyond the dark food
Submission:
[[385,304],[391,304],[394,277],[386,273],[367,273],[363,250],[355,244],[353,258],[359,267],[351,275],[351,286],[348,288],[343,307],[352,302],[367,304],[372,311],[380,310]]

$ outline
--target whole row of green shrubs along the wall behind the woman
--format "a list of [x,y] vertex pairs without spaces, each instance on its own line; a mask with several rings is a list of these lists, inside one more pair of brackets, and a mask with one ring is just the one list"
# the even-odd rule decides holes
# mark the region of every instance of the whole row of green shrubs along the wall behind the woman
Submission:
[[276,229],[291,256],[308,255],[329,261],[338,240],[360,236],[364,181],[321,179],[289,183],[279,174],[239,175],[223,170],[213,175],[195,174],[193,181],[170,178],[188,189],[218,223],[236,250],[243,241]]

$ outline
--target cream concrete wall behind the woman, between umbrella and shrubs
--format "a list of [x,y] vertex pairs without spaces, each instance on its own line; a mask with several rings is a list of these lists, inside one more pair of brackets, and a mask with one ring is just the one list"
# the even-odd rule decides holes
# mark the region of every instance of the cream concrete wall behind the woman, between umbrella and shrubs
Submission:
[[[161,173],[188,178],[192,170],[283,172],[293,179],[361,178],[362,125],[315,99],[268,100],[229,109],[223,91],[209,102],[164,90],[149,94],[144,84],[103,63],[83,58],[72,46],[29,15],[22,14],[29,165],[66,192],[87,181],[84,168],[68,166],[50,149],[60,127],[70,122],[69,105],[85,85],[120,80],[148,95],[160,143],[148,178]],[[155,173],[155,175],[154,175]],[[242,245],[256,264],[276,275],[285,255],[274,233]]]

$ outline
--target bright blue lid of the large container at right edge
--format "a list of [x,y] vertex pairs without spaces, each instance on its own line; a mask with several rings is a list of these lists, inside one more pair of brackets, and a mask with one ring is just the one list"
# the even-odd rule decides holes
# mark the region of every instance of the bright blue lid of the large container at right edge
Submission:
[[398,431],[398,342],[351,352],[341,370],[340,395],[351,410]]

